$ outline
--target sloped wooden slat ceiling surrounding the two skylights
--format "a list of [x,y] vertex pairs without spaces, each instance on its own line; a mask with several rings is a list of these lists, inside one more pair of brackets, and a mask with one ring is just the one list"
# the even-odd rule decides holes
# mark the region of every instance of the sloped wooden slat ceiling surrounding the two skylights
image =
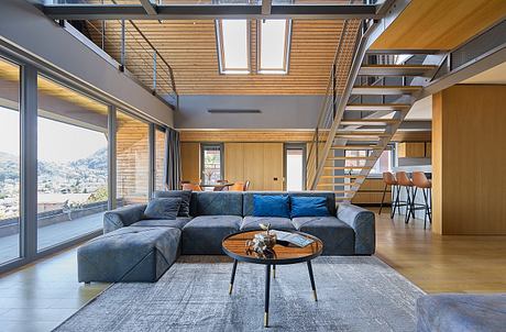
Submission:
[[[134,22],[173,67],[179,95],[324,95],[332,60],[344,21],[294,20],[288,75],[220,75],[215,21]],[[344,84],[350,66],[359,20],[349,21],[343,38],[339,71]],[[252,36],[256,21],[251,22]],[[106,51],[119,58],[120,25],[109,21]],[[151,54],[140,36],[128,33],[127,68],[145,84],[151,82]],[[95,34],[95,42],[99,37]],[[255,71],[255,38],[251,38],[252,69]],[[160,84],[164,84],[163,81]]]

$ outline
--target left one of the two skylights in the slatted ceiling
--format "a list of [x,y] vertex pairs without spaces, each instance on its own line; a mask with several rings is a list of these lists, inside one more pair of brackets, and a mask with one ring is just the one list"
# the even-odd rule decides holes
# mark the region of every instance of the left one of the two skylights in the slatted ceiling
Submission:
[[218,56],[221,74],[250,74],[248,20],[218,20]]

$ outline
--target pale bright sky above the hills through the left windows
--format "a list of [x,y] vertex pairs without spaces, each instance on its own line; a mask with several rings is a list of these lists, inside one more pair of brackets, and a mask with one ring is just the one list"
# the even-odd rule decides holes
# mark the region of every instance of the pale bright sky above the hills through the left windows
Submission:
[[[107,147],[103,133],[38,118],[38,159],[66,163]],[[0,107],[0,152],[20,155],[19,112]]]

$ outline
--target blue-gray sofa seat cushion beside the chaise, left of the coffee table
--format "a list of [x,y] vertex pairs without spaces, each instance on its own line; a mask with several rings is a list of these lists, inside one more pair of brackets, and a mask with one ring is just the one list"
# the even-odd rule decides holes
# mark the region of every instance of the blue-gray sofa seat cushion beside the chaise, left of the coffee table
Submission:
[[239,215],[200,215],[183,228],[183,254],[221,255],[221,241],[239,231]]

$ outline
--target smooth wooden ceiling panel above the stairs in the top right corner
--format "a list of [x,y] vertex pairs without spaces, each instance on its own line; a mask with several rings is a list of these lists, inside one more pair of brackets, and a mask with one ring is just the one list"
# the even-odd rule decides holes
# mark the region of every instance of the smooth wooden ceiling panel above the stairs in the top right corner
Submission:
[[505,16],[505,0],[413,0],[371,48],[452,49]]

